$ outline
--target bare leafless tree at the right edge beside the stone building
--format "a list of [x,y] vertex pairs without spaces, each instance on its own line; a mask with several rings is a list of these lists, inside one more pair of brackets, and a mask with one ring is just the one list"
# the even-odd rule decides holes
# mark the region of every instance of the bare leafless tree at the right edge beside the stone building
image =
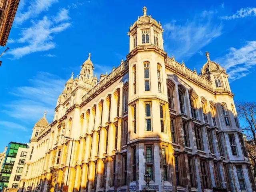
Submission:
[[237,114],[246,136],[246,148],[256,178],[256,102],[237,102]]

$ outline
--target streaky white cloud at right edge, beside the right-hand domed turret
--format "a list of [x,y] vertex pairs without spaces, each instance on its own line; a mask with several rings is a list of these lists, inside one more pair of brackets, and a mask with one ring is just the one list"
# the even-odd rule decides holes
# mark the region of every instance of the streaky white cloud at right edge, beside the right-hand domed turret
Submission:
[[256,67],[256,41],[248,41],[241,48],[229,48],[228,54],[216,59],[229,74],[230,82],[254,71]]

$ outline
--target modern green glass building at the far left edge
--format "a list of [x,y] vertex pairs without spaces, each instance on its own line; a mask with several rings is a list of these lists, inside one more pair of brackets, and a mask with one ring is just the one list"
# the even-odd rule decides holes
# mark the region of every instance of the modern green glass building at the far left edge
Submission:
[[12,168],[16,160],[19,147],[28,148],[27,144],[10,142],[6,151],[6,156],[2,167],[0,167],[0,190],[8,186],[8,182],[12,173]]

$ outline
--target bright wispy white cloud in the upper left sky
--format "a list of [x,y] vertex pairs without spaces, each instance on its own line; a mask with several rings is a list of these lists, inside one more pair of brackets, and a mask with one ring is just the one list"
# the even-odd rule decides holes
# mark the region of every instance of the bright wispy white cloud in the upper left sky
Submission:
[[20,47],[11,49],[8,54],[18,59],[27,54],[38,51],[46,51],[55,48],[53,41],[54,34],[62,32],[71,26],[70,22],[61,22],[56,24],[55,18],[44,16],[42,20],[32,21],[32,26],[21,30],[21,37],[17,40],[23,44]]

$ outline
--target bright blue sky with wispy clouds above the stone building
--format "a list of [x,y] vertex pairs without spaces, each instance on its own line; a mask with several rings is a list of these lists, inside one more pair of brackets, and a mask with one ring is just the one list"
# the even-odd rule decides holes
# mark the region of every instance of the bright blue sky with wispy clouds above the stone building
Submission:
[[44,110],[52,121],[66,80],[89,52],[98,77],[126,58],[127,32],[143,6],[161,22],[168,56],[200,72],[208,51],[230,74],[234,99],[256,101],[254,0],[20,0],[1,58],[0,151],[28,142]]

